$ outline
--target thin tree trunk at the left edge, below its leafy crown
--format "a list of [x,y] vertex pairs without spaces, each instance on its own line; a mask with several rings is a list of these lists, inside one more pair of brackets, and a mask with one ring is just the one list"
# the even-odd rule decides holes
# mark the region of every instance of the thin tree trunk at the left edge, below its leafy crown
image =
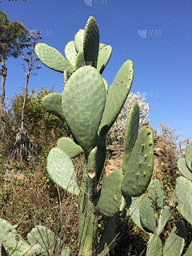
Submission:
[[1,84],[1,90],[2,90],[2,95],[0,98],[0,115],[1,118],[4,117],[4,101],[6,97],[5,93],[5,82],[6,82],[6,64],[5,64],[5,58],[2,57],[2,70],[1,70],[1,77],[2,77],[2,84]]

